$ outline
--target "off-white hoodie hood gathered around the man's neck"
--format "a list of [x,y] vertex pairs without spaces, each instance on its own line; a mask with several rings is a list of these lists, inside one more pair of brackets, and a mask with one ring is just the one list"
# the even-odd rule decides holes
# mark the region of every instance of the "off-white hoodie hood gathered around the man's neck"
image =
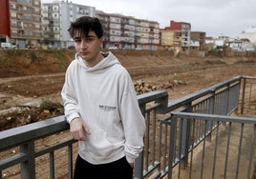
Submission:
[[77,60],[78,64],[87,72],[99,72],[101,70],[105,70],[115,64],[119,64],[119,61],[117,60],[117,57],[111,52],[102,52],[101,54],[104,56],[104,58],[96,64],[94,67],[88,67],[86,66],[85,61],[78,55],[78,53],[75,53],[75,60]]

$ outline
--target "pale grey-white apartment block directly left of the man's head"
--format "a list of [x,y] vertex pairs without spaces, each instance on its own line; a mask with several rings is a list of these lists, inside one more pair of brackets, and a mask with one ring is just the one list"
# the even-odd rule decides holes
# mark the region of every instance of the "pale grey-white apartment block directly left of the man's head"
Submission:
[[43,44],[50,49],[73,46],[74,42],[68,29],[71,22],[83,15],[96,16],[96,8],[73,4],[68,1],[42,4]]

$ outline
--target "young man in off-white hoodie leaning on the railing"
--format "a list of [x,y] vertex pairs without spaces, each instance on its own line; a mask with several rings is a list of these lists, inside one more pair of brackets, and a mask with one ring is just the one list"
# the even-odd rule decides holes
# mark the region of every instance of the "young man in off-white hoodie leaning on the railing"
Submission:
[[75,60],[61,95],[78,140],[75,178],[131,179],[143,149],[145,121],[132,79],[112,52],[101,52],[102,26],[82,16],[71,23]]

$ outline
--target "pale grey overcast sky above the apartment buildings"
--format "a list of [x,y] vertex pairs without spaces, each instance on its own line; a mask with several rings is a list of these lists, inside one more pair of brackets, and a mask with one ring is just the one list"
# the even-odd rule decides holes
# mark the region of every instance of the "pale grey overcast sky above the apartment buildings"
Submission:
[[[69,0],[70,2],[71,0]],[[41,0],[51,3],[53,0]],[[249,26],[256,26],[255,0],[72,0],[74,4],[95,7],[108,13],[120,13],[160,23],[187,22],[192,31],[206,36],[237,38]]]

